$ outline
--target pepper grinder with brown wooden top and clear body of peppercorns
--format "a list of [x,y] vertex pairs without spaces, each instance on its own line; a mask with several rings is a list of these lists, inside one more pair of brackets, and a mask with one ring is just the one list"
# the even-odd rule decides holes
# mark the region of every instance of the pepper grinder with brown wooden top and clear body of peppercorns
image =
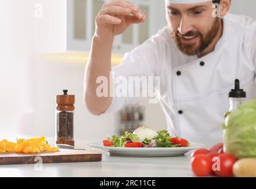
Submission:
[[56,95],[56,144],[75,145],[73,140],[73,115],[75,95],[69,95],[68,90]]

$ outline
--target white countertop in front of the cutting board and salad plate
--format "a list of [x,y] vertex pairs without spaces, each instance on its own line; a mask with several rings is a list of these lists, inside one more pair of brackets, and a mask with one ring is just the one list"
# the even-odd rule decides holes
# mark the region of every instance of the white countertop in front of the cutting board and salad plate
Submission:
[[[88,148],[88,141],[76,141]],[[92,149],[92,148],[91,148]],[[189,156],[114,157],[103,152],[102,161],[43,164],[0,165],[0,177],[194,177]]]

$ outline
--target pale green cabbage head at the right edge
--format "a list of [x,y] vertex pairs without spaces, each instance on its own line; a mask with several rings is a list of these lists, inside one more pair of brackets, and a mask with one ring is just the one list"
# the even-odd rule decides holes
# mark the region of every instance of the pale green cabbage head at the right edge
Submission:
[[236,158],[256,157],[256,99],[237,107],[224,129],[225,152]]

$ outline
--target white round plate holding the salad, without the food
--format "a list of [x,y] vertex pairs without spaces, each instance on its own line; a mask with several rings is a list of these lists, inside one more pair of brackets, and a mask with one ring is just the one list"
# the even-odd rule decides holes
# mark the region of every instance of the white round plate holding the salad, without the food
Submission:
[[103,146],[101,142],[92,142],[89,146],[103,149],[110,155],[126,156],[126,157],[169,157],[180,156],[185,153],[203,148],[204,144],[190,142],[190,147],[178,147],[178,148],[125,148],[125,147],[108,147]]

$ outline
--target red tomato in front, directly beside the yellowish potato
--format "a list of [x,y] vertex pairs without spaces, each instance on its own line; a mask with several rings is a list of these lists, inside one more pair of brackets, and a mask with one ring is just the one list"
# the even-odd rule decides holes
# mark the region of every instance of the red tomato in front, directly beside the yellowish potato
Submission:
[[219,177],[233,177],[233,164],[237,161],[232,154],[219,154],[217,156],[216,162],[213,162],[215,169],[213,170],[215,174]]

